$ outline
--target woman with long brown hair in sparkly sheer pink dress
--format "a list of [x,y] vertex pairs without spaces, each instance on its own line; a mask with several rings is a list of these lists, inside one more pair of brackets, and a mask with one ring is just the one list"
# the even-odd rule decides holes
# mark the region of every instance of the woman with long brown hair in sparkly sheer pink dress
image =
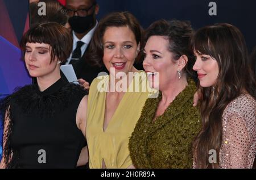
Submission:
[[231,24],[204,27],[192,48],[203,121],[193,145],[194,168],[252,168],[256,91],[243,35]]

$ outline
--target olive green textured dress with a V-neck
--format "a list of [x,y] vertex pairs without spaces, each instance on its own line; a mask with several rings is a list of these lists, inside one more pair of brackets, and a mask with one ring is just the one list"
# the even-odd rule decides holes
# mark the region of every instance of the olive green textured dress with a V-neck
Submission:
[[156,118],[162,93],[147,99],[129,140],[130,157],[136,168],[192,168],[192,142],[201,128],[199,110],[193,107],[195,82],[188,86]]

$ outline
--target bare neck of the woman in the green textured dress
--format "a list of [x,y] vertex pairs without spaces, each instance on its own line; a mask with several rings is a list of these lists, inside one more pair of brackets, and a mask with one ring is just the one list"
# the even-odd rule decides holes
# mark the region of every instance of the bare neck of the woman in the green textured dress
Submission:
[[185,87],[188,85],[188,82],[186,77],[182,77],[181,79],[175,79],[175,81],[167,84],[169,86],[167,85],[162,90],[159,90],[162,91],[162,103],[166,106],[169,106],[169,104],[174,101],[176,96],[185,89]]

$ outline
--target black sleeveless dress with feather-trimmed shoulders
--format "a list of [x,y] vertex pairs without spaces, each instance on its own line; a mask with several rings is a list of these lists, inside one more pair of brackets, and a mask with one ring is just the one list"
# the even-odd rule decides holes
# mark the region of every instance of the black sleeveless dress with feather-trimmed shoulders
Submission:
[[6,168],[76,168],[86,145],[76,113],[86,94],[60,78],[44,91],[28,85],[3,99]]

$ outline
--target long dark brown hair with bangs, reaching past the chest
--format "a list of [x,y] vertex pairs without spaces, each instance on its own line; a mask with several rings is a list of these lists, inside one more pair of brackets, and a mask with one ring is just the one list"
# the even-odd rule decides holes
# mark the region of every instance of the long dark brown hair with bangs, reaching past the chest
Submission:
[[[256,99],[255,77],[249,66],[245,39],[237,27],[221,23],[200,28],[193,35],[191,45],[194,52],[209,55],[218,64],[214,91],[213,87],[199,85],[203,128],[193,144],[196,168],[218,168],[224,109],[243,92]],[[217,152],[215,164],[208,160],[210,149]]]

